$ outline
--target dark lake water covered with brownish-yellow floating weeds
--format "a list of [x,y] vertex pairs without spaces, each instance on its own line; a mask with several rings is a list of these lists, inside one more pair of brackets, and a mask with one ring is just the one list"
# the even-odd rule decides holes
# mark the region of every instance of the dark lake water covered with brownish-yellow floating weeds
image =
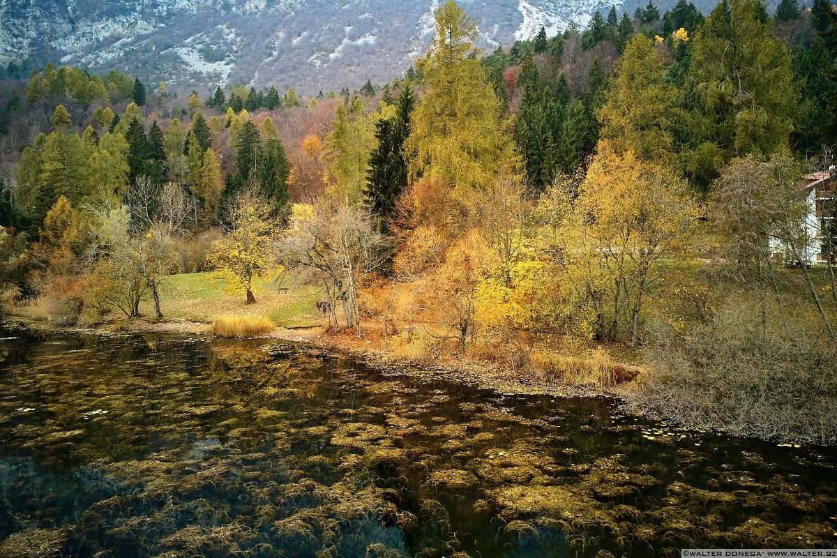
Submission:
[[[0,330],[0,556],[837,546],[837,451],[306,346]],[[460,553],[460,554],[457,554]]]

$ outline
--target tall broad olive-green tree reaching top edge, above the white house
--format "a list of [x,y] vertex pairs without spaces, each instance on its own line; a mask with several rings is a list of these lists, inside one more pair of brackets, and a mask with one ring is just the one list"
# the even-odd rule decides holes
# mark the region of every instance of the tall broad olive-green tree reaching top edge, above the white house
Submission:
[[[696,120],[689,126],[694,151],[685,156],[696,167],[706,166],[711,154],[715,162],[702,180],[706,185],[719,162],[787,146],[798,94],[788,47],[773,33],[759,0],[719,4],[691,48],[686,95],[696,100]],[[727,56],[732,51],[737,55]],[[734,85],[731,75],[737,76]]]

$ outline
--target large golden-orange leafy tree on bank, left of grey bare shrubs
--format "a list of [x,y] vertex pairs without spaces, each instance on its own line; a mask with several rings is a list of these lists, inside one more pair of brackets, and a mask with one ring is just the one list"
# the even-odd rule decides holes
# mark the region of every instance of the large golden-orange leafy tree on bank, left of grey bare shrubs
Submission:
[[592,305],[601,338],[628,327],[639,340],[643,305],[670,274],[661,262],[686,249],[697,217],[670,171],[599,143],[563,232],[562,267]]

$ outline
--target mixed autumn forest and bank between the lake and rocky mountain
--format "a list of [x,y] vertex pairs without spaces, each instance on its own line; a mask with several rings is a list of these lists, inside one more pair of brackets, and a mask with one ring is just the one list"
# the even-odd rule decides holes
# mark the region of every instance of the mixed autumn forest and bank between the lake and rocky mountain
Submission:
[[449,0],[435,30],[398,79],[310,98],[3,68],[4,312],[191,320],[188,277],[244,327],[279,290],[406,361],[837,439],[831,220],[803,255],[837,139],[829,0],[649,2],[492,53]]

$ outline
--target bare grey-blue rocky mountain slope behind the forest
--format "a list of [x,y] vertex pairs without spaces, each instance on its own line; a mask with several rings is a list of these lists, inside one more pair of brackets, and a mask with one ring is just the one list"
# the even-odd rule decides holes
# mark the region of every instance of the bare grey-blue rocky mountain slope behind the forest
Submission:
[[[622,0],[616,3],[620,9]],[[624,8],[632,11],[637,0]],[[436,0],[0,0],[0,63],[29,58],[167,84],[232,81],[303,93],[392,79],[433,37]],[[585,26],[608,0],[462,3],[494,49]],[[33,65],[33,64],[30,64]]]

